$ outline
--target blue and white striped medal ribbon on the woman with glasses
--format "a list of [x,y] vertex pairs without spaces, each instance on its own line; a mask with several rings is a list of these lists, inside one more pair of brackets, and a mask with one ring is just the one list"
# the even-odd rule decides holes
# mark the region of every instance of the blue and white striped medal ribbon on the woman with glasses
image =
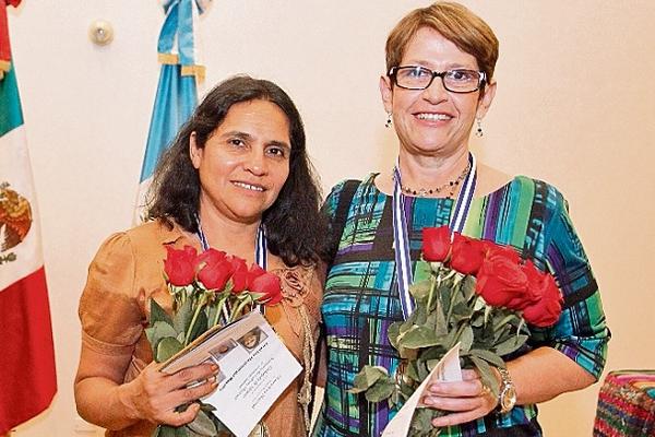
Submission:
[[[475,186],[477,181],[477,166],[475,156],[472,152],[468,152],[468,164],[471,170],[455,203],[453,215],[451,216],[449,227],[451,229],[451,236],[457,232],[462,233],[464,224],[466,223],[466,216],[468,215],[468,209],[473,201],[473,193],[475,192]],[[414,311],[414,299],[409,293],[409,285],[414,281],[412,273],[412,259],[409,257],[409,232],[407,231],[407,215],[405,212],[405,194],[401,188],[401,169],[400,169],[400,157],[396,161],[396,166],[393,168],[393,239],[394,239],[394,252],[397,272],[398,294],[401,298],[401,307],[403,309],[403,317],[405,320]]]

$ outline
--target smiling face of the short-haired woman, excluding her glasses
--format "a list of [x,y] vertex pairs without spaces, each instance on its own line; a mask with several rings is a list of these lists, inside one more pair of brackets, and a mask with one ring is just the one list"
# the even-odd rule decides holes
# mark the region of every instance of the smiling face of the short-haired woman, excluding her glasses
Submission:
[[[473,55],[430,28],[421,27],[412,37],[401,66],[421,66],[433,71],[479,70]],[[414,155],[451,156],[468,147],[468,137],[476,117],[484,117],[493,99],[496,84],[480,91],[457,94],[446,91],[440,78],[426,90],[404,90],[391,79],[380,79],[380,92],[393,123],[401,149]]]

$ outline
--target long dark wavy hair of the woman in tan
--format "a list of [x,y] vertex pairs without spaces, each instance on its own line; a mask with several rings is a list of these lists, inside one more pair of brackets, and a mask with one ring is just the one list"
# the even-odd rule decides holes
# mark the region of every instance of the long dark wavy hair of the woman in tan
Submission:
[[148,192],[147,218],[169,227],[172,221],[188,232],[198,232],[200,177],[189,155],[189,139],[204,147],[229,108],[241,102],[267,101],[277,105],[289,122],[291,151],[289,176],[275,202],[263,213],[267,246],[285,264],[311,264],[325,258],[325,218],[320,214],[320,189],[307,156],[305,128],[291,98],[276,84],[246,75],[216,85],[198,106],[162,155]]

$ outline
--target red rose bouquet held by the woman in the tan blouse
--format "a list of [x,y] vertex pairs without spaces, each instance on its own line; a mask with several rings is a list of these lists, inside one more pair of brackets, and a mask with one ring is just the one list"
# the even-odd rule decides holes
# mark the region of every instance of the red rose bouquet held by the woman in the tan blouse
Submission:
[[[210,328],[230,322],[257,305],[282,300],[279,277],[257,264],[248,268],[243,259],[215,249],[200,255],[191,246],[166,250],[164,277],[172,296],[172,317],[151,299],[150,327],[145,330],[157,363],[167,361]],[[181,427],[159,425],[153,436],[215,436],[227,432],[212,409],[201,403],[195,421]]]

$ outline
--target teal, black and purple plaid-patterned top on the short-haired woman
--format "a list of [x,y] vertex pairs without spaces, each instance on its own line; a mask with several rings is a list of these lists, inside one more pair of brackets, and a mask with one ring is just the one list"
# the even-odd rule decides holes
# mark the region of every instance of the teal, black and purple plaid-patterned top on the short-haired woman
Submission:
[[[403,317],[394,261],[392,198],[377,189],[376,176],[369,175],[354,193],[327,274],[322,305],[327,382],[314,436],[377,437],[396,412],[386,402],[369,403],[362,395],[347,392],[365,365],[383,366],[393,375],[398,364],[386,335],[389,326]],[[343,187],[344,182],[334,187],[325,202],[332,216]],[[452,209],[450,199],[406,199],[413,260],[420,258],[421,229],[448,224]],[[553,327],[531,327],[528,349],[555,347],[599,378],[610,334],[596,281],[561,193],[546,182],[515,177],[497,191],[473,200],[464,234],[510,245],[553,274],[564,296],[564,309]],[[413,269],[421,270],[416,269],[416,262]],[[499,428],[503,428],[503,435],[540,436],[536,405],[516,406],[505,415],[492,413],[443,429],[440,436],[497,435],[493,429],[498,433]]]

